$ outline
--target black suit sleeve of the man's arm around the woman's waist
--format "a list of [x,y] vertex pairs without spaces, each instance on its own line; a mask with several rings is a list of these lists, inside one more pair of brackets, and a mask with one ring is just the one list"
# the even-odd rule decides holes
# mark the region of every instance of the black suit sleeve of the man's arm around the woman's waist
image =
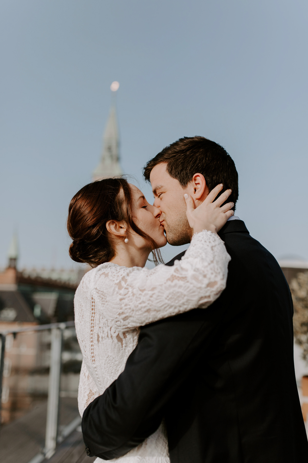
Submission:
[[197,365],[220,316],[211,306],[141,328],[124,371],[83,414],[91,456],[120,457],[156,431],[164,407]]

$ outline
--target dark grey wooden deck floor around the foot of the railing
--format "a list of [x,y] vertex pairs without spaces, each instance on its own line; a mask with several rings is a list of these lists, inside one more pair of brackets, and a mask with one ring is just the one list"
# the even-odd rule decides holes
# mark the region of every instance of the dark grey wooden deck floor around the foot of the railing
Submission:
[[[28,463],[44,447],[47,402],[38,403],[29,413],[0,429],[0,462]],[[69,424],[79,415],[77,399],[63,398],[60,425]],[[91,463],[81,432],[74,431],[61,444],[49,463]]]

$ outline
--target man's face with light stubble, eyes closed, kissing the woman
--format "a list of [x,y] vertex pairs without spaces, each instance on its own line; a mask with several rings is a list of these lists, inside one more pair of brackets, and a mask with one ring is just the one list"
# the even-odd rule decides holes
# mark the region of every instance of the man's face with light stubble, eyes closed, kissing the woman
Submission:
[[161,210],[159,221],[163,225],[169,244],[180,246],[190,243],[192,229],[186,217],[186,202],[178,180],[170,177],[166,163],[157,164],[151,170],[151,186],[154,194],[154,206]]

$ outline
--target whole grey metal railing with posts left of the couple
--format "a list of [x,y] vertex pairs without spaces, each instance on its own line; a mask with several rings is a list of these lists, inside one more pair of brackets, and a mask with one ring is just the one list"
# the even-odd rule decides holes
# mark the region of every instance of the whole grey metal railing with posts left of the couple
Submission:
[[81,423],[80,416],[77,416],[68,425],[62,427],[59,432],[59,403],[60,403],[60,377],[61,377],[61,357],[63,332],[68,327],[73,327],[74,321],[66,323],[51,323],[49,325],[37,325],[23,328],[11,329],[0,332],[1,355],[0,355],[0,416],[1,416],[1,397],[4,372],[4,357],[7,335],[16,337],[21,332],[38,332],[42,330],[51,330],[51,350],[50,350],[50,369],[48,380],[48,400],[47,400],[47,418],[45,447],[40,453],[33,457],[29,463],[41,463],[45,458],[49,459],[55,453],[57,443],[62,442],[71,432],[73,432]]

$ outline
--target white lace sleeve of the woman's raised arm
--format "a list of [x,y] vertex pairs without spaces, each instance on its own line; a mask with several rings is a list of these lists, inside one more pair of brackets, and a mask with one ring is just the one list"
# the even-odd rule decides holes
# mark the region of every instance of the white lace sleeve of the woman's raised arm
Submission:
[[135,328],[208,307],[226,286],[229,260],[223,241],[203,231],[193,236],[185,256],[172,267],[103,264],[97,268],[91,296],[118,330]]

